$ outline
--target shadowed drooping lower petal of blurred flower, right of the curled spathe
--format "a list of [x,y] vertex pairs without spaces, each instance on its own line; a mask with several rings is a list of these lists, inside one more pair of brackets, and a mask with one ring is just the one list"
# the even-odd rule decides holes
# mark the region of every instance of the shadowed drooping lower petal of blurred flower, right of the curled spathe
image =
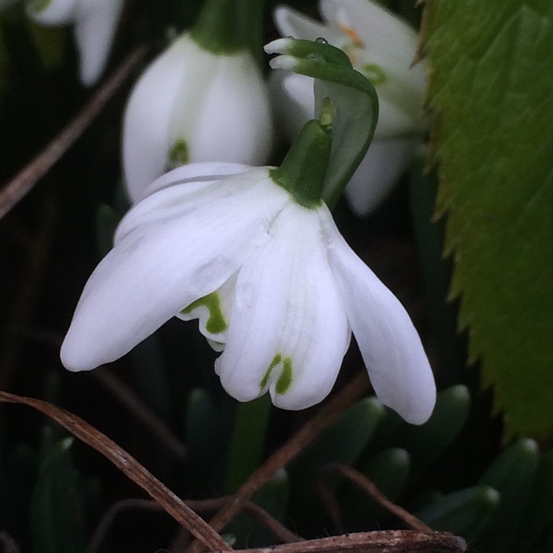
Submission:
[[420,139],[375,140],[346,187],[346,199],[359,217],[372,213],[411,164]]

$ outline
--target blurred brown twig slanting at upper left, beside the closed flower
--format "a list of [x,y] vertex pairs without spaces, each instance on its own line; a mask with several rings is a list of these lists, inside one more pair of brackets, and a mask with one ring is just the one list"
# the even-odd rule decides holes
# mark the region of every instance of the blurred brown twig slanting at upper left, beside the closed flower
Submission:
[[50,168],[62,158],[64,153],[82,135],[86,127],[104,109],[106,103],[119,90],[120,86],[131,75],[132,71],[142,61],[148,48],[139,46],[124,59],[119,68],[106,83],[93,95],[84,108],[75,115],[68,125],[36,156],[19,174],[17,174],[0,191],[0,218],[12,209],[28,194],[33,186]]

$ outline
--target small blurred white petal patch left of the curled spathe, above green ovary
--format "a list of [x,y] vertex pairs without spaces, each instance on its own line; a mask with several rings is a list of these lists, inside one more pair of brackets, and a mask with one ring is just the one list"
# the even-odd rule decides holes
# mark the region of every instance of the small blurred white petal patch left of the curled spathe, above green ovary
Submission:
[[269,88],[273,98],[275,121],[293,139],[315,113],[313,79],[282,69],[271,71]]

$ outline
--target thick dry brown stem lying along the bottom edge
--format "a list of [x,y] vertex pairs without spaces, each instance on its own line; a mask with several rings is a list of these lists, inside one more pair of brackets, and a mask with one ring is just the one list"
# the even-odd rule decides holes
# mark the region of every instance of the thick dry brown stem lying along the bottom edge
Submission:
[[236,553],[463,553],[466,550],[465,540],[449,532],[383,530],[236,550]]

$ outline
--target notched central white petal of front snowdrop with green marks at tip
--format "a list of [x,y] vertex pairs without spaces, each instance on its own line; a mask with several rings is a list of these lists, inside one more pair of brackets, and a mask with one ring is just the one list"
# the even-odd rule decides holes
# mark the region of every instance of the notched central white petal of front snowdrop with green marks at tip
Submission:
[[350,331],[317,212],[290,203],[271,232],[238,274],[216,371],[238,400],[269,388],[275,405],[304,409],[330,392]]

